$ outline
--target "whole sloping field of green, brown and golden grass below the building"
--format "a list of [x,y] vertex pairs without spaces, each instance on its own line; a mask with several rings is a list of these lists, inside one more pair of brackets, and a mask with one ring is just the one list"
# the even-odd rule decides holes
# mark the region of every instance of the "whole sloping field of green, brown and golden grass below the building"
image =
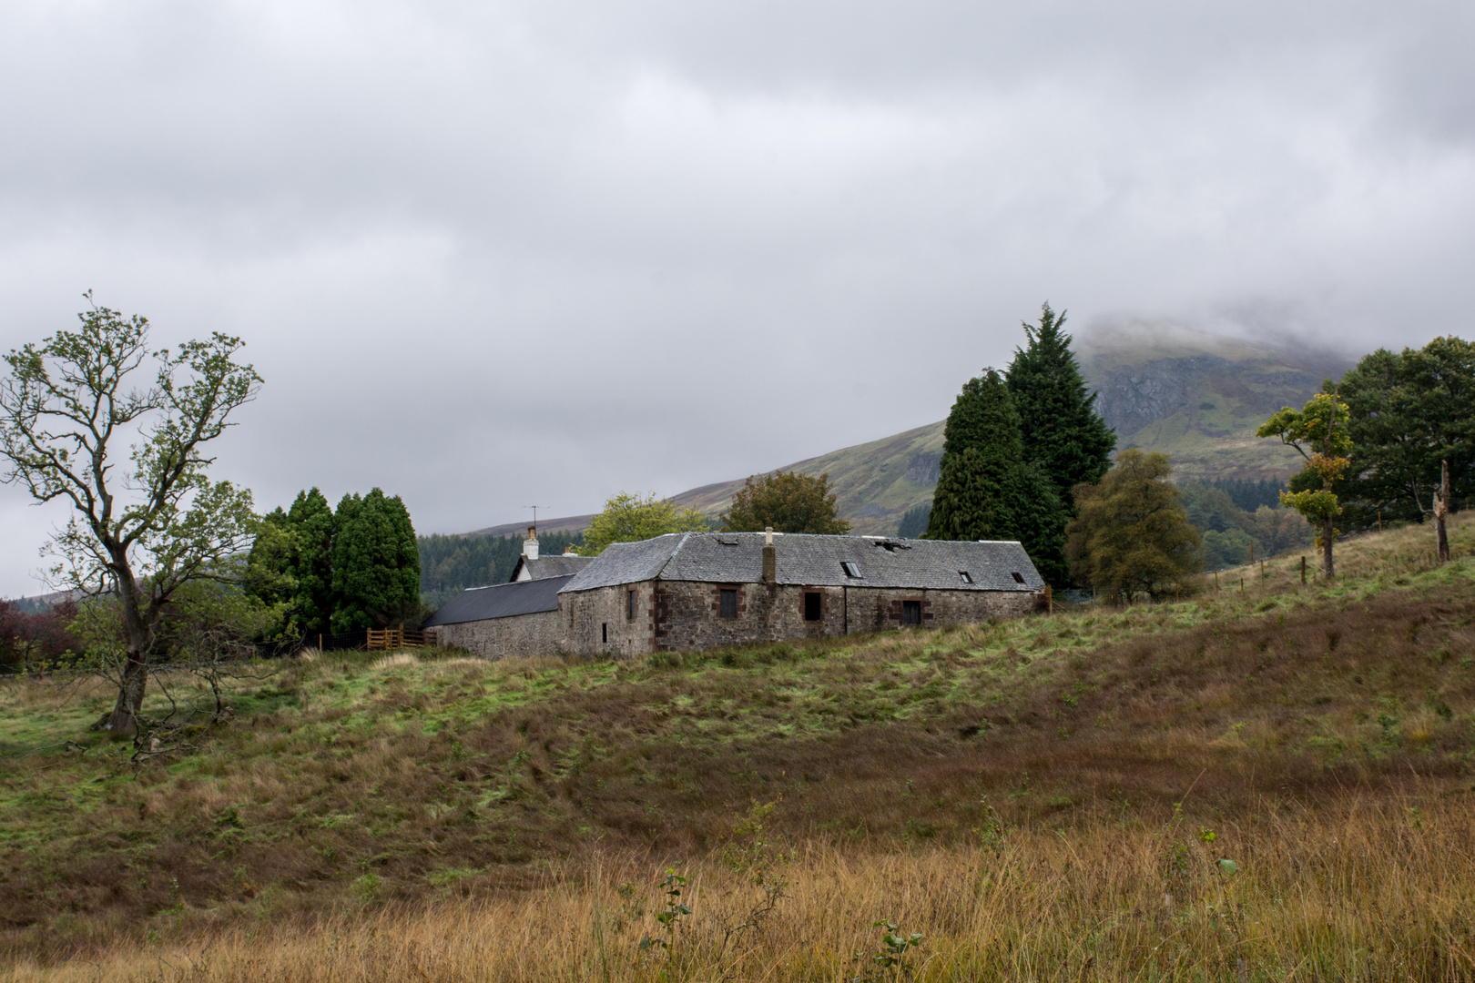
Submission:
[[1475,979],[1453,541],[807,647],[291,660],[139,771],[105,690],[9,679],[0,979]]

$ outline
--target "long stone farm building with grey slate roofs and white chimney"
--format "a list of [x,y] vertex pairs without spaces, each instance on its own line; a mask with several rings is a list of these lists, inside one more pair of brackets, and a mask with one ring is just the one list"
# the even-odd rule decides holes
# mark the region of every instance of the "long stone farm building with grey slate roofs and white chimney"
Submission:
[[512,582],[463,591],[426,622],[438,644],[488,659],[634,656],[941,628],[1047,597],[1024,547],[1004,541],[681,532],[547,557],[559,566],[528,544]]

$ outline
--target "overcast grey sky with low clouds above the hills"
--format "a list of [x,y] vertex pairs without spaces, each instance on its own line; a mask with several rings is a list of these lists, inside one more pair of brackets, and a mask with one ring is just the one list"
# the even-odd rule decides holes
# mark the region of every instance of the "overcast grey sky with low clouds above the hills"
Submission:
[[[266,377],[217,470],[420,532],[941,419],[1049,298],[1471,336],[1475,4],[0,4],[0,349]],[[0,594],[60,510],[0,488]]]

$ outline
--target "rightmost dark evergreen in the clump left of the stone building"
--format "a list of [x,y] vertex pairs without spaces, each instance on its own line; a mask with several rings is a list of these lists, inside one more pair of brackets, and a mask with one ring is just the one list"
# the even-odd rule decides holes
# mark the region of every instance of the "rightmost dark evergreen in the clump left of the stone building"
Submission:
[[420,618],[420,554],[400,497],[344,495],[333,536],[333,631]]

